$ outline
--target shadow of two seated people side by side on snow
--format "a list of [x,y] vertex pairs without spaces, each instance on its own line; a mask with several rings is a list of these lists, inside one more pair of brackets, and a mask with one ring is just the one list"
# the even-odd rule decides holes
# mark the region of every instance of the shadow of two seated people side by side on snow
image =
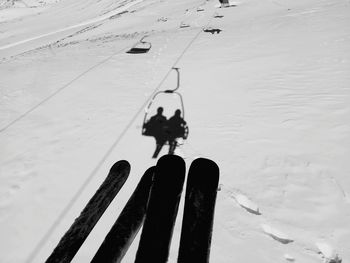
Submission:
[[175,114],[167,120],[163,115],[163,108],[157,109],[157,114],[152,116],[144,125],[143,134],[153,136],[156,140],[156,150],[152,158],[157,158],[166,142],[169,143],[169,154],[174,154],[178,146],[178,138],[187,138],[188,127],[181,117],[181,110],[176,110]]

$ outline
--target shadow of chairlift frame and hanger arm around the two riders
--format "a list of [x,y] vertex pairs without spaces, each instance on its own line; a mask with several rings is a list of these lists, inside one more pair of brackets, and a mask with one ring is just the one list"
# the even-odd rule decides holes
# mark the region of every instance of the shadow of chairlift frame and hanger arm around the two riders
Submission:
[[[157,99],[157,97],[161,94],[169,94],[169,95],[176,95],[177,96],[177,99],[179,100],[180,102],[180,105],[181,105],[181,118],[182,119],[185,119],[185,107],[184,107],[184,103],[183,103],[183,99],[182,99],[182,95],[177,92],[176,90],[179,89],[180,87],[180,71],[179,71],[179,68],[173,68],[176,73],[177,73],[177,85],[176,85],[176,88],[175,89],[168,89],[168,90],[163,90],[163,91],[158,91],[156,92],[153,97],[151,98],[150,102],[148,103],[147,105],[147,108],[145,110],[145,116],[143,118],[143,123],[142,123],[142,135],[144,136],[154,136],[152,134],[152,131],[148,130],[147,129],[147,122],[150,120],[151,116],[149,116],[150,114],[150,109],[151,109],[151,106],[153,104],[153,102]],[[186,140],[187,139],[187,136],[188,136],[188,127],[186,125],[185,127],[185,130],[184,130],[184,134],[183,134],[183,139]]]

